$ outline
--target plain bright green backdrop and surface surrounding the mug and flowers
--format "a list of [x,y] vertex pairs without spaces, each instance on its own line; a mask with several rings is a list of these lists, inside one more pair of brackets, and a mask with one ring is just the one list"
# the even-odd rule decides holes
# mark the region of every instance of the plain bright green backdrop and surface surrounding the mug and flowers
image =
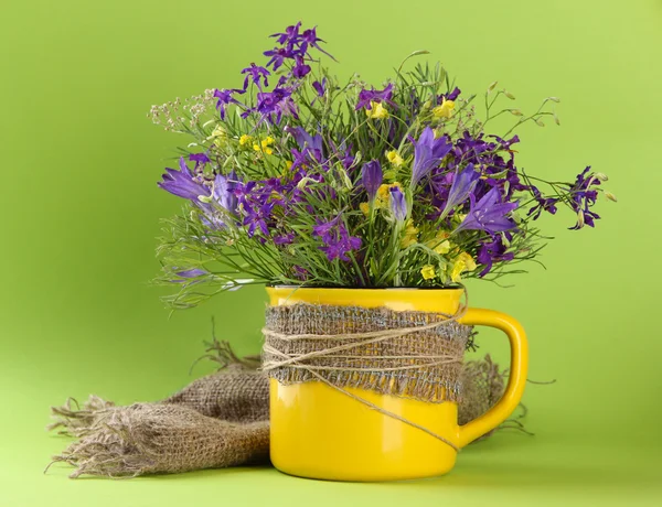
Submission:
[[[381,84],[427,48],[466,91],[494,79],[525,110],[555,95],[562,127],[520,134],[520,164],[572,176],[586,164],[619,197],[595,230],[542,223],[546,270],[473,305],[513,314],[531,339],[530,438],[502,432],[433,481],[333,484],[270,468],[106,481],[42,474],[66,441],[47,409],[89,392],[156,400],[190,381],[211,335],[260,346],[260,289],[169,319],[147,282],[159,218],[179,209],[156,181],[180,141],[152,104],[239,84],[238,71],[296,20],[319,24],[338,72]],[[662,2],[4,1],[0,505],[644,505],[662,500],[659,202]],[[479,336],[505,359],[505,339]],[[194,376],[211,371],[200,365]],[[658,504],[660,505],[660,504]]]

